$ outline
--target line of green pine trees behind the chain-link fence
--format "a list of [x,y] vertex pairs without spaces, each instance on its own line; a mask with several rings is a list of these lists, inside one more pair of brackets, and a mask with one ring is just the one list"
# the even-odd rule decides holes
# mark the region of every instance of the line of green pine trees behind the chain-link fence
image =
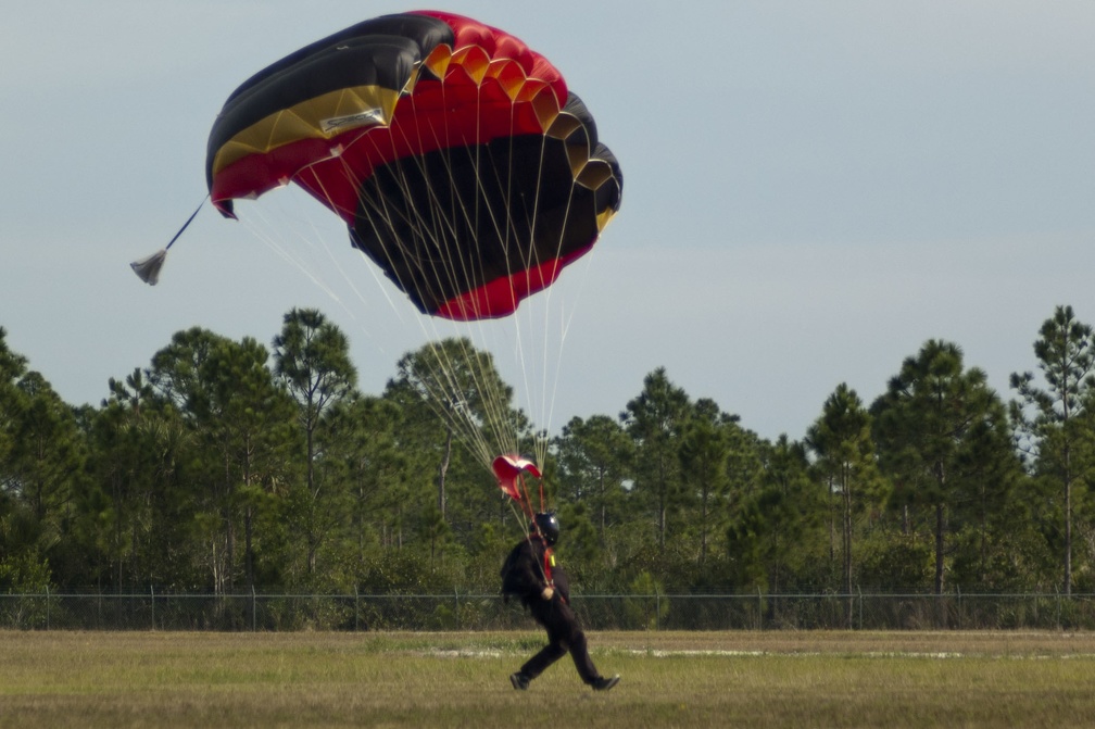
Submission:
[[[1005,401],[926,342],[799,440],[655,369],[551,438],[560,554],[587,593],[1095,591],[1092,327],[1059,306],[1034,350]],[[362,393],[345,334],[295,309],[269,348],[178,332],[73,407],[0,328],[0,592],[496,591],[520,525],[429,402],[434,351]]]

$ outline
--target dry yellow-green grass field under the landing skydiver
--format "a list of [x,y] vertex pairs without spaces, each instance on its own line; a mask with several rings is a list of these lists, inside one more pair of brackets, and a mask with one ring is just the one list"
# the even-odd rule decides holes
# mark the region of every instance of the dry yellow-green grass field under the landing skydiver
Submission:
[[527,633],[0,632],[0,727],[1075,727],[1095,634],[597,633],[514,691]]

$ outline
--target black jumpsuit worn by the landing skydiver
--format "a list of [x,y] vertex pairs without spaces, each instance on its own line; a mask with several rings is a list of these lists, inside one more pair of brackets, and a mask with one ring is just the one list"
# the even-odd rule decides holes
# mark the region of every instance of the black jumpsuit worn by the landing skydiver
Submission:
[[[569,581],[563,568],[553,566],[553,557],[549,556],[545,565],[546,549],[543,540],[532,535],[514,547],[502,570],[503,592],[518,598],[548,630],[548,645],[521,667],[521,673],[532,680],[569,651],[578,675],[587,684],[595,685],[601,675],[589,658],[586,634],[570,610]],[[546,572],[550,572],[555,591],[551,600],[542,597],[548,587]]]

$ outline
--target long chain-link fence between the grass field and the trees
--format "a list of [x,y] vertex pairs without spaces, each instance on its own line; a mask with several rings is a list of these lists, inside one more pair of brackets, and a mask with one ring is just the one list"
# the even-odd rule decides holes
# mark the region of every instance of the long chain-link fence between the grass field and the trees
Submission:
[[[575,595],[595,630],[1095,629],[1095,594]],[[0,628],[497,630],[527,627],[496,594],[0,594]]]

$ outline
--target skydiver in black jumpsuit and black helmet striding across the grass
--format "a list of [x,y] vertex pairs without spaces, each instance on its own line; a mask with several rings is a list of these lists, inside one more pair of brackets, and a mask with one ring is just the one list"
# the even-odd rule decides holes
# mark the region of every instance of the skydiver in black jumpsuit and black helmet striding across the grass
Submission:
[[532,613],[548,630],[548,645],[511,674],[509,682],[514,688],[528,688],[530,681],[569,651],[581,680],[595,691],[608,691],[620,676],[602,676],[589,658],[586,634],[570,610],[569,580],[552,554],[558,541],[558,519],[552,512],[538,513],[532,524],[532,533],[514,546],[503,565],[502,592],[507,600],[520,600]]

